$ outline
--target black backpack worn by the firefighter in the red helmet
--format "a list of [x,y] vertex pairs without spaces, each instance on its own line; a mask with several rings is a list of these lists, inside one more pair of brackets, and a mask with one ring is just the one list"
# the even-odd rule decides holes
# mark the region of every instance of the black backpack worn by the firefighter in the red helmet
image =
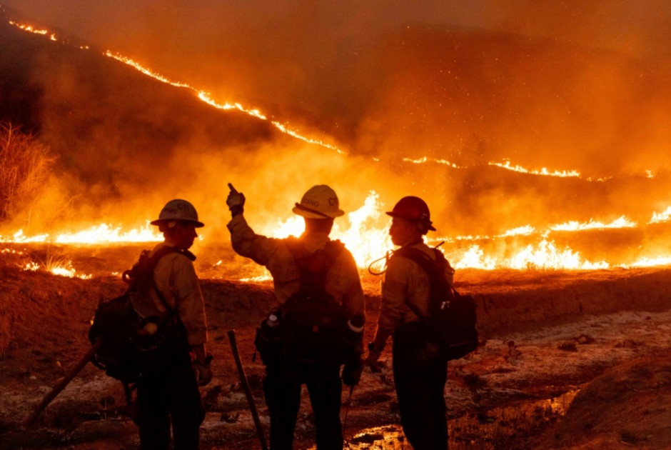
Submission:
[[[402,247],[394,256],[408,258],[428,274],[430,280],[430,301],[428,315],[420,312],[417,306],[406,304],[424,322],[425,339],[440,348],[441,354],[448,359],[460,359],[478,347],[478,330],[475,329],[475,300],[470,295],[459,294],[445,279],[445,269],[449,262],[438,249],[436,259],[431,260],[422,251]],[[451,269],[451,267],[450,267]]]

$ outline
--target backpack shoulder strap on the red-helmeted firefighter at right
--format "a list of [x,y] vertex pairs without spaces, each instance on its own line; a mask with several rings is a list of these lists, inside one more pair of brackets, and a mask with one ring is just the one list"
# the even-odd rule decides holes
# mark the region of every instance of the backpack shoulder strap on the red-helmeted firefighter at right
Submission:
[[[453,271],[453,273],[454,269],[452,269],[452,266],[450,266],[448,260],[445,259],[443,252],[441,252],[438,249],[433,249],[433,251],[435,253],[435,261],[433,261],[433,259],[430,259],[430,257],[423,251],[420,251],[419,249],[413,249],[412,247],[401,247],[400,249],[396,250],[392,255],[392,257],[399,256],[401,258],[407,258],[410,259],[410,261],[414,261],[428,275],[430,282],[430,294],[429,294],[430,301],[429,301],[429,314],[428,314],[429,316],[433,314],[435,311],[438,311],[440,309],[441,304],[445,300],[440,298],[440,291],[444,291],[445,295],[448,296],[454,295],[452,286],[445,279],[445,271],[447,270],[447,268],[449,267],[449,269]],[[447,289],[445,289],[445,287],[447,287]],[[415,304],[410,303],[408,299],[405,299],[405,304],[407,304],[408,307],[420,319],[426,318],[427,315],[422,314],[419,307]]]

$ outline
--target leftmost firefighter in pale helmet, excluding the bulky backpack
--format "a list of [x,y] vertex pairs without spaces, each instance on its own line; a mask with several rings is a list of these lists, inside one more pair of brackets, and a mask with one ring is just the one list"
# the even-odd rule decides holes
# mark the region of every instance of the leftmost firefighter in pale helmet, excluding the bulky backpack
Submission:
[[140,446],[143,450],[167,450],[172,424],[175,449],[198,449],[199,429],[205,419],[198,386],[211,381],[212,370],[211,356],[206,354],[205,304],[193,267],[196,256],[188,249],[203,222],[191,203],[174,199],[151,224],[164,236],[151,254],[164,246],[179,251],[158,260],[153,272],[155,289],[148,296],[134,297],[133,307],[143,317],[166,316],[168,308],[176,309],[176,329],[181,330],[181,337],[169,339],[168,361],[149,368],[138,383]]

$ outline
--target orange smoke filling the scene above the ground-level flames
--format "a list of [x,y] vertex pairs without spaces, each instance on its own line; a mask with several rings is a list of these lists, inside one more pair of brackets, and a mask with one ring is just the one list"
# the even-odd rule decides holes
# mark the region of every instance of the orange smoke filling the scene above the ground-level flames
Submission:
[[[99,54],[73,63],[49,50],[33,80],[46,93],[42,136],[69,149],[58,186],[72,205],[51,221],[130,224],[182,197],[206,232],[226,236],[227,181],[259,224],[291,216],[322,183],[348,211],[371,190],[386,208],[422,196],[445,234],[644,218],[665,205],[671,16],[662,2],[3,3],[347,152],[194,106],[193,93],[140,81]],[[460,169],[404,161],[423,156]],[[504,160],[582,179],[488,166]],[[657,179],[641,178],[647,170]]]

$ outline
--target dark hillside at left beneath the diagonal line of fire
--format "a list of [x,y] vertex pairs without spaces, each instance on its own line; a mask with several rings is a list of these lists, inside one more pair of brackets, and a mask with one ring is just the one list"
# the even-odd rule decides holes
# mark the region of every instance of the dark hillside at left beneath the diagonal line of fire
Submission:
[[[86,185],[126,177],[193,141],[209,149],[282,139],[267,121],[221,111],[94,49],[0,22],[0,120],[34,132]],[[148,164],[147,164],[148,163]],[[128,165],[135,170],[128,171]],[[150,180],[143,174],[137,181]],[[112,189],[112,186],[110,186]]]

